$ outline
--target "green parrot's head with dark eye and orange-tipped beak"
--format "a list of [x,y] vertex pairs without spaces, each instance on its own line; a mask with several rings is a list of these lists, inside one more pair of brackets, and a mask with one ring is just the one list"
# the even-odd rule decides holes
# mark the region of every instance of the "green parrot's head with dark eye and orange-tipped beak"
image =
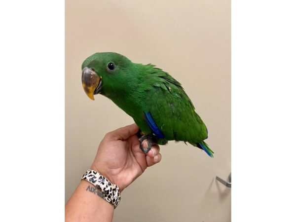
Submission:
[[108,97],[112,92],[120,92],[127,85],[128,70],[132,62],[114,52],[101,52],[89,56],[82,64],[82,86],[86,95],[94,100],[94,95]]

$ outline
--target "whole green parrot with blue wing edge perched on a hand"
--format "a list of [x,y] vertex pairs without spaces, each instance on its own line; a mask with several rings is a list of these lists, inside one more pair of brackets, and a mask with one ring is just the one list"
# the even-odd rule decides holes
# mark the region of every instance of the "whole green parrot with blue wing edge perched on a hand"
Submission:
[[[101,94],[130,115],[144,134],[140,148],[147,153],[153,143],[188,142],[213,157],[204,142],[208,130],[181,83],[152,64],[131,62],[114,52],[89,56],[82,64],[82,86],[94,100]],[[148,147],[142,142],[148,140]]]

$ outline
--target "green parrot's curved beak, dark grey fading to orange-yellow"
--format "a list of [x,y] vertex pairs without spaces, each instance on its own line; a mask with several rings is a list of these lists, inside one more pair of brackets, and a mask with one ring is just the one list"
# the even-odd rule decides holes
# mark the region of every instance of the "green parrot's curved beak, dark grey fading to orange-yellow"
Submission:
[[94,95],[101,92],[102,76],[98,75],[93,69],[85,67],[82,70],[82,86],[86,95],[95,100]]

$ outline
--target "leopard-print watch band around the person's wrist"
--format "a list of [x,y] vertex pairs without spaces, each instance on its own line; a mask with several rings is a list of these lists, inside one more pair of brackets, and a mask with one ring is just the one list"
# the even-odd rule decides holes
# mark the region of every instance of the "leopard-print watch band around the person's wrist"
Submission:
[[114,209],[118,206],[121,198],[119,188],[103,175],[94,170],[88,170],[83,174],[81,180],[86,180],[96,186],[103,193],[104,199],[114,206]]

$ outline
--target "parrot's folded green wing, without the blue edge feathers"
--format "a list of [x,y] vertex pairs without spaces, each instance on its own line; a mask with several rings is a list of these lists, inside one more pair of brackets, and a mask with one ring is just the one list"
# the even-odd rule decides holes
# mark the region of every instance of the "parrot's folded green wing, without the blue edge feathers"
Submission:
[[181,83],[168,73],[149,66],[152,69],[148,72],[150,87],[146,90],[145,111],[150,112],[165,139],[192,144],[205,140],[207,128],[194,111]]

